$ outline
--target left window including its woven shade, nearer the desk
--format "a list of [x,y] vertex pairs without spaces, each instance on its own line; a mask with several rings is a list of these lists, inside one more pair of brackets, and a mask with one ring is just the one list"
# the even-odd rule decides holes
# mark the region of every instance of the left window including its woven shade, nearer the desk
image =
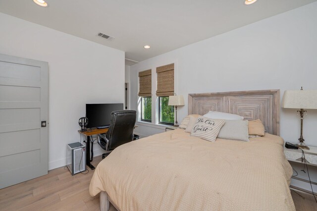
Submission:
[[139,97],[141,97],[141,121],[152,122],[152,70],[139,72]]

